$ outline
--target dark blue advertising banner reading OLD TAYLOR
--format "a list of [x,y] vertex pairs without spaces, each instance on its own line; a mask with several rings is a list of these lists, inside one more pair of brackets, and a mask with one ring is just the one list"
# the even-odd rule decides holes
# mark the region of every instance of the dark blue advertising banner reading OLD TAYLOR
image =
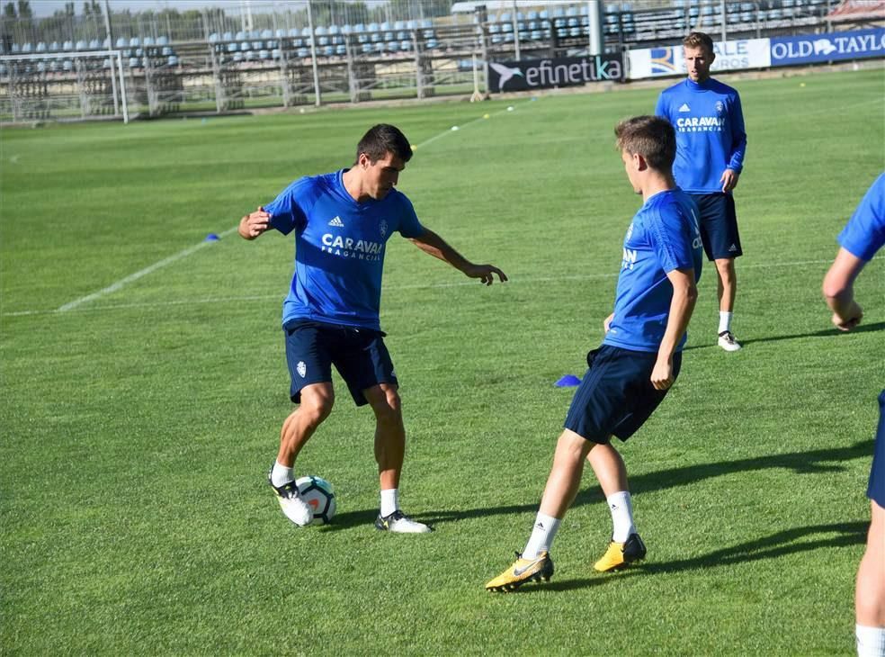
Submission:
[[772,38],[772,66],[885,56],[885,28]]

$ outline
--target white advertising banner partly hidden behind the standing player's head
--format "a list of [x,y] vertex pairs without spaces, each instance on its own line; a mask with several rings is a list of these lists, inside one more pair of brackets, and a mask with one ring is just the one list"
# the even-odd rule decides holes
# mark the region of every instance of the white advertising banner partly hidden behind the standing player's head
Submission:
[[[745,68],[767,68],[772,65],[768,39],[738,39],[713,43],[716,58],[711,71],[735,71]],[[666,46],[630,50],[631,80],[657,76],[684,76],[683,48]]]

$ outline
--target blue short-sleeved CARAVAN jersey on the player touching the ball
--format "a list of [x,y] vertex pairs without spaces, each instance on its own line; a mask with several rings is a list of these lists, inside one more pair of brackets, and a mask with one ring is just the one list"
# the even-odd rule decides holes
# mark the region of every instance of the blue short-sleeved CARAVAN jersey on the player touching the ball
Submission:
[[324,321],[380,330],[384,247],[396,231],[420,237],[424,227],[396,189],[380,201],[356,202],[342,175],[305,176],[265,205],[271,226],[295,231],[295,273],[282,304],[282,323]]

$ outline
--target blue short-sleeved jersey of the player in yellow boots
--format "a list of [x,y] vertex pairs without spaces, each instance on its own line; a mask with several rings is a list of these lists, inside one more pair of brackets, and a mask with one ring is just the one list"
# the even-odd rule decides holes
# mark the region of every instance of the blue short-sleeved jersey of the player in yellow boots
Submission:
[[672,189],[643,203],[624,238],[614,317],[603,345],[656,352],[673,301],[673,285],[666,275],[674,269],[694,269],[697,282],[702,252],[698,209],[688,194]]

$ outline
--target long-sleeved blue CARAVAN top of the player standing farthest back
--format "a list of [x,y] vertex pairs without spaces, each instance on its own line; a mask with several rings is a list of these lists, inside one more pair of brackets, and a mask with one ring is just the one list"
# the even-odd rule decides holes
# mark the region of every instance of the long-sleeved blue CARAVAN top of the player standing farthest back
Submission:
[[676,130],[673,175],[685,192],[721,192],[725,170],[743,169],[744,113],[729,85],[713,79],[699,85],[686,78],[661,92],[655,113]]

